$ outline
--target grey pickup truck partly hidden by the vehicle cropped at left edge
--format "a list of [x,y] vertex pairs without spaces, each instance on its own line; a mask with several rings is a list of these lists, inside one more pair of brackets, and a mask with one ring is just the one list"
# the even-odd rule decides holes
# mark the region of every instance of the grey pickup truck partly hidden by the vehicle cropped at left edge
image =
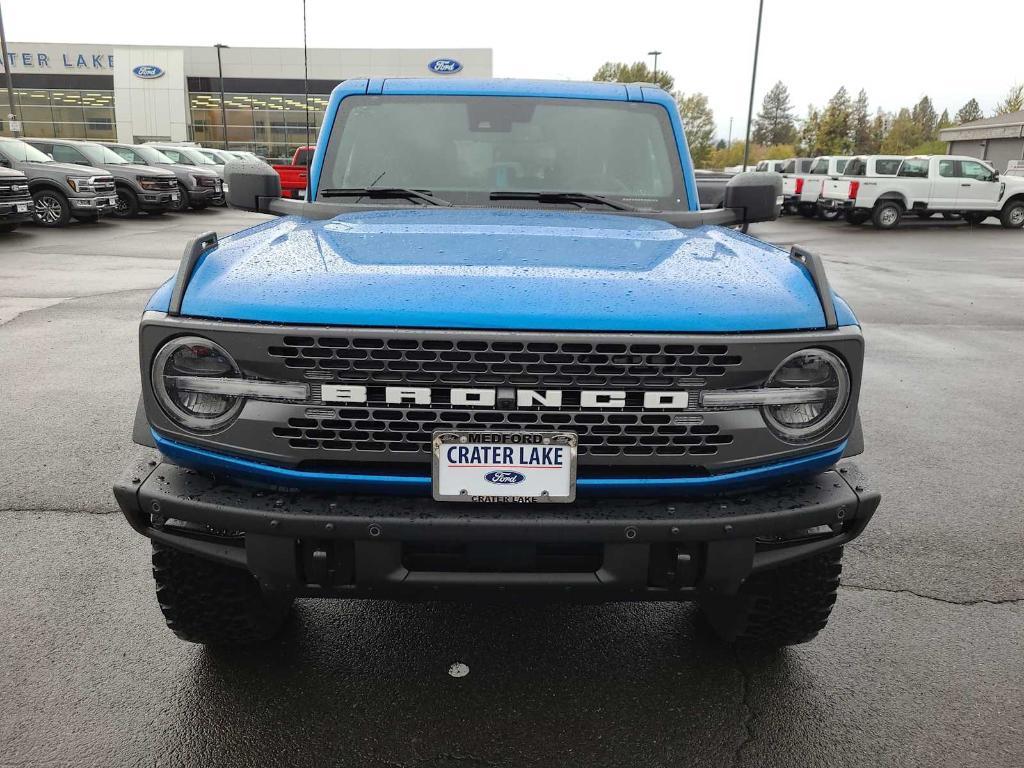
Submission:
[[0,166],[28,177],[36,223],[42,226],[65,226],[73,218],[95,221],[117,208],[114,177],[106,171],[57,163],[20,139],[0,137]]

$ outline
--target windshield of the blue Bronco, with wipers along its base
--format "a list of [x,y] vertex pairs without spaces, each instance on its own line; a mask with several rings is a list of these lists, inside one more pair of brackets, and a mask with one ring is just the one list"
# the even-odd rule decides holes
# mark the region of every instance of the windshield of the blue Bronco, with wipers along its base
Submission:
[[350,96],[318,189],[367,186],[426,189],[456,204],[485,203],[492,193],[573,191],[686,206],[668,113],[637,102]]

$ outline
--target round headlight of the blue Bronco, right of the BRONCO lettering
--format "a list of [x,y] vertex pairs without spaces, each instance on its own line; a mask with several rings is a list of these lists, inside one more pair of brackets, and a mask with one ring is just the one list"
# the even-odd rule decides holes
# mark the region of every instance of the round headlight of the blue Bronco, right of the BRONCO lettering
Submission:
[[768,378],[767,387],[808,388],[806,402],[765,406],[765,421],[787,442],[805,442],[834,426],[850,400],[850,373],[838,355],[824,349],[794,352]]

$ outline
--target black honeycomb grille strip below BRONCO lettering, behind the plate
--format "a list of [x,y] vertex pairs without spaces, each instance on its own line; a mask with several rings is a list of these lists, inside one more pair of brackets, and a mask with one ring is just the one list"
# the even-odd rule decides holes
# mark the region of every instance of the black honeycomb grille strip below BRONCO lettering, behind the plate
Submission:
[[[656,420],[651,417],[658,417]],[[581,456],[714,456],[731,434],[715,425],[674,424],[667,414],[339,408],[331,418],[289,419],[274,437],[308,451],[394,452],[428,457],[430,435],[450,429],[567,429]]]

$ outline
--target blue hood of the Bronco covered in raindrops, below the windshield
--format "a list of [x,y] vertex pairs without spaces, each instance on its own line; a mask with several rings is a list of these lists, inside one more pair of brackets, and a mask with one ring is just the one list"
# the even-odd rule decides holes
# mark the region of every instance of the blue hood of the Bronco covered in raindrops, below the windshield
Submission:
[[[169,286],[150,308],[167,308]],[[840,325],[855,323],[837,302]],[[274,219],[196,267],[182,314],[325,326],[742,332],[824,325],[807,272],[732,229],[493,209]]]

